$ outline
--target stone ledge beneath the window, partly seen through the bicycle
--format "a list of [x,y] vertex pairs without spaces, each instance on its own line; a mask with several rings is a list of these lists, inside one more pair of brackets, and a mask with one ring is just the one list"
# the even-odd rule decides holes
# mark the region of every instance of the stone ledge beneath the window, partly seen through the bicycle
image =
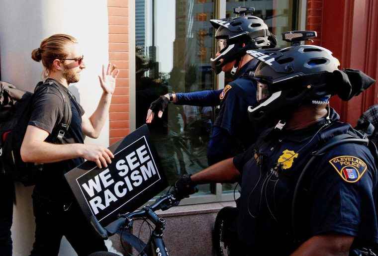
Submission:
[[[178,256],[213,256],[212,233],[216,214],[225,206],[236,206],[234,201],[220,203],[205,203],[195,205],[175,206],[166,211],[156,211],[159,217],[167,221],[164,230],[164,242],[170,255]],[[147,241],[150,229],[142,225],[143,221],[135,220],[131,233]],[[113,247],[127,255],[123,250],[120,237],[115,235],[110,238]],[[124,245],[127,244],[124,241]],[[136,252],[133,252],[136,255]]]

